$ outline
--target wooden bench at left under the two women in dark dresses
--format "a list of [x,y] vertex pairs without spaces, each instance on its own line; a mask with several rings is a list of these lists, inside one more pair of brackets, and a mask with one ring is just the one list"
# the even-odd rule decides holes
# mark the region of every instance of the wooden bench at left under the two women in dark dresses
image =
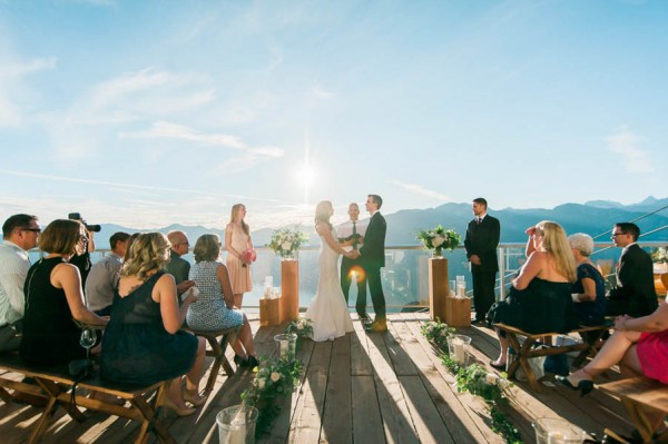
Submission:
[[[157,418],[157,408],[163,405],[167,396],[169,382],[164,381],[148,386],[137,386],[129,384],[117,384],[105,381],[99,376],[88,377],[77,384],[79,387],[105,394],[118,396],[130,403],[130,406],[117,405],[98,399],[86,397],[80,393],[75,393],[75,404],[71,403],[71,392],[75,386],[75,379],[68,373],[68,366],[56,367],[35,367],[26,365],[18,353],[0,354],[0,369],[10,372],[0,375],[0,397],[9,403],[13,396],[8,389],[20,391],[31,395],[47,398],[47,406],[39,417],[36,427],[30,433],[28,443],[37,443],[49,427],[53,413],[59,406],[77,422],[86,420],[84,413],[78,408],[82,406],[89,410],[105,412],[110,415],[125,417],[128,420],[141,422],[139,434],[135,443],[146,443],[148,433],[155,432],[161,443],[176,444],[176,441],[169,434],[167,427]],[[31,377],[38,385],[27,384],[14,381],[8,375],[11,373],[22,374]],[[150,395],[157,391],[157,395],[150,398]],[[127,403],[126,403],[127,405]]]

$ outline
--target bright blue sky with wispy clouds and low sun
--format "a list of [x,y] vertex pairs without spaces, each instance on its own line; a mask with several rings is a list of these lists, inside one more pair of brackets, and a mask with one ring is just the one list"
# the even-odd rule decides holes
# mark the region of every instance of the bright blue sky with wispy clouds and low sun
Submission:
[[0,218],[666,197],[668,2],[0,0]]

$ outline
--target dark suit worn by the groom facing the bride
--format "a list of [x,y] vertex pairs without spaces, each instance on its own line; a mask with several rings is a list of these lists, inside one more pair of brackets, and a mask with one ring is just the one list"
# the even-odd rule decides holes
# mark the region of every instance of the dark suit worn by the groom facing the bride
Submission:
[[385,319],[385,295],[381,283],[381,268],[385,266],[385,231],[387,224],[380,211],[369,221],[364,245],[360,248],[362,266],[366,272],[369,293],[373,303],[376,319]]

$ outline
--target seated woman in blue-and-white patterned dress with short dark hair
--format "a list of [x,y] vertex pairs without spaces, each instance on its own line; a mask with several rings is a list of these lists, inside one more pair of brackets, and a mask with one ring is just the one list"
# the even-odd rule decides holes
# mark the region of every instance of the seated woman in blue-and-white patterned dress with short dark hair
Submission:
[[234,307],[234,293],[227,267],[220,262],[220,237],[202,235],[195,243],[195,265],[189,278],[199,289],[199,302],[188,308],[188,327],[195,330],[220,330],[239,327],[232,342],[237,366],[257,367],[253,333],[246,314]]

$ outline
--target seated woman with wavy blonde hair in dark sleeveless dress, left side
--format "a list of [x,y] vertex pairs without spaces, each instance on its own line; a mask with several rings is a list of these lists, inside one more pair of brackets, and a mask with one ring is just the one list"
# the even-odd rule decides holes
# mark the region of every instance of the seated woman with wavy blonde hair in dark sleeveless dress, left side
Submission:
[[173,378],[165,406],[186,416],[195,408],[184,401],[194,406],[206,401],[198,387],[205,341],[180,329],[197,297],[189,294],[179,307],[174,277],[163,270],[170,249],[161,233],[141,234],[130,246],[102,338],[100,367],[105,378],[118,383],[148,385]]

